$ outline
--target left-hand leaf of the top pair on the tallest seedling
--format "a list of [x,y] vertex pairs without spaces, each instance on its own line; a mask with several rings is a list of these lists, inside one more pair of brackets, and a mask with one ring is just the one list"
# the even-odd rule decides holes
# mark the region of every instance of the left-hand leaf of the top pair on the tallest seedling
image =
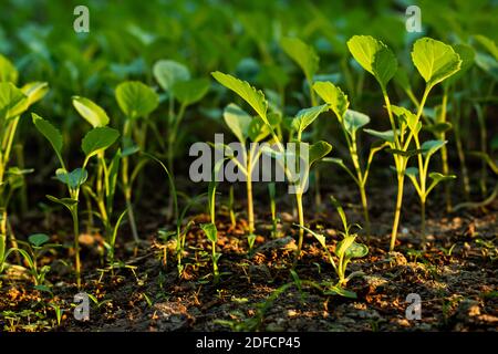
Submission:
[[354,35],[347,48],[360,65],[370,72],[385,88],[397,70],[397,60],[383,42],[370,35]]

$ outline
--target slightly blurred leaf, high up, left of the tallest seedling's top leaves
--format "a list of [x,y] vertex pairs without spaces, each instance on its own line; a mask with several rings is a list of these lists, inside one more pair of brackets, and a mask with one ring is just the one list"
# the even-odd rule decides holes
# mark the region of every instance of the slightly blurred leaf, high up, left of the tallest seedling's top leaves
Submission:
[[320,61],[314,49],[297,38],[283,38],[280,45],[287,55],[301,67],[308,82],[312,82]]

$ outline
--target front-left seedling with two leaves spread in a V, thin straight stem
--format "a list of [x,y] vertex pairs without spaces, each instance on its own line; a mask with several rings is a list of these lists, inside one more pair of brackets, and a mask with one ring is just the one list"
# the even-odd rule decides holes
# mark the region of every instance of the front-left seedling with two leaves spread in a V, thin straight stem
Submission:
[[79,223],[79,202],[81,186],[86,181],[89,173],[86,165],[90,158],[104,152],[112,146],[120,136],[116,129],[110,127],[93,128],[84,136],[81,148],[85,154],[85,159],[82,167],[69,171],[66,164],[62,158],[63,139],[61,132],[55,128],[49,121],[43,119],[35,113],[32,113],[33,124],[37,129],[49,140],[55,153],[56,158],[61,165],[55,171],[56,179],[68,186],[69,198],[56,198],[46,196],[51,201],[63,205],[71,212],[73,220],[73,237],[74,237],[74,257],[76,270],[77,288],[81,288],[81,262],[80,262],[80,223]]

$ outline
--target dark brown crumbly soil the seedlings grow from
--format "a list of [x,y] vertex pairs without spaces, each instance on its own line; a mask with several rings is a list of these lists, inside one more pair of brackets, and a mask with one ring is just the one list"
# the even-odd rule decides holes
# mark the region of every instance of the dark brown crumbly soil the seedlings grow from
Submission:
[[[357,200],[349,189],[335,188],[334,196],[344,201],[350,222],[361,222],[361,212],[347,201]],[[486,208],[446,214],[442,200],[429,204],[427,215],[428,247],[422,251],[418,204],[407,188],[401,232],[395,252],[387,252],[393,187],[370,188],[373,236],[360,232],[369,254],[354,260],[347,272],[362,271],[347,290],[356,299],[323,294],[319,284],[335,279],[325,252],[310,235],[304,240],[302,258],[290,273],[294,257],[292,215],[280,212],[279,237],[271,236],[268,204],[256,205],[255,248],[248,252],[245,206],[238,206],[237,225],[231,226],[226,207],[217,215],[218,251],[221,280],[214,284],[210,243],[198,225],[208,221],[196,212],[195,226],[187,235],[186,262],[178,278],[175,241],[162,240],[164,210],[142,206],[142,235],[138,247],[118,242],[122,267],[113,273],[102,261],[102,237],[87,232],[83,243],[82,291],[95,296],[90,320],[73,317],[73,296],[79,292],[71,272],[71,249],[58,250],[41,260],[51,263],[48,279],[51,292],[33,289],[25,271],[9,268],[1,278],[0,329],[8,331],[497,331],[498,330],[498,200]],[[311,191],[310,191],[311,192]],[[330,191],[323,191],[323,197]],[[309,198],[312,199],[312,198]],[[157,201],[145,198],[145,204]],[[323,199],[325,200],[325,199]],[[292,210],[292,199],[279,199],[279,210]],[[308,200],[310,201],[310,200]],[[164,200],[163,200],[164,205]],[[221,201],[221,205],[224,202]],[[328,236],[332,252],[340,239],[339,217],[330,204],[317,211],[308,205],[307,220],[312,229]],[[269,211],[269,210],[268,210]],[[50,226],[55,242],[70,242],[71,226],[63,211],[55,215],[33,212],[23,218],[25,226]],[[123,228],[126,233],[126,227]],[[126,239],[126,237],[124,237]],[[128,240],[131,238],[127,238]],[[166,254],[166,261],[164,258]],[[61,257],[65,259],[62,262]],[[289,284],[287,289],[281,287]],[[408,294],[419,295],[419,320],[408,320]],[[63,309],[58,325],[53,304]]]

